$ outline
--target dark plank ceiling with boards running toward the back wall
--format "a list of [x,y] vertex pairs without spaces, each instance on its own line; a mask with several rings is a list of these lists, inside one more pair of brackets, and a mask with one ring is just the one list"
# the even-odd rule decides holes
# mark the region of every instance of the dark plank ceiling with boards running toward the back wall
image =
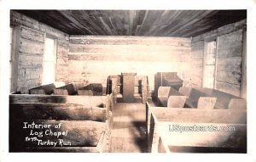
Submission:
[[69,35],[197,36],[247,18],[246,10],[16,10]]

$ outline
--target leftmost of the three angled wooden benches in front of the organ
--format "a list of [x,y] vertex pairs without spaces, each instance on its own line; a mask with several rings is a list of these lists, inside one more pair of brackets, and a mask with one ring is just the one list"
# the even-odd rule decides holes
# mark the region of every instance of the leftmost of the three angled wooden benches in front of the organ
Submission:
[[183,107],[184,100],[186,99],[183,94],[177,92],[172,87],[159,87],[157,98],[158,105],[163,107]]

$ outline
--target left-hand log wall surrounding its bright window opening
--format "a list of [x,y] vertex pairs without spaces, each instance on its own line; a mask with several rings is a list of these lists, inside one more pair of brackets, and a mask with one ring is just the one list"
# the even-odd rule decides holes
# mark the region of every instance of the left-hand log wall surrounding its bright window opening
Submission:
[[57,40],[56,81],[67,82],[69,50],[67,35],[15,11],[10,12],[10,24],[16,26],[15,42],[18,42],[14,53],[17,58],[14,69],[17,71],[13,74],[18,74],[15,91],[27,93],[28,89],[41,85],[46,34],[54,36]]

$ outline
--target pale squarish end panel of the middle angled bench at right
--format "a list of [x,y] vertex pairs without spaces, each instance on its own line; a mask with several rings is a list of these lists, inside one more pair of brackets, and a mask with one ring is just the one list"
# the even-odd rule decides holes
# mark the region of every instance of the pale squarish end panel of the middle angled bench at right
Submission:
[[217,98],[201,97],[197,103],[197,109],[214,109]]

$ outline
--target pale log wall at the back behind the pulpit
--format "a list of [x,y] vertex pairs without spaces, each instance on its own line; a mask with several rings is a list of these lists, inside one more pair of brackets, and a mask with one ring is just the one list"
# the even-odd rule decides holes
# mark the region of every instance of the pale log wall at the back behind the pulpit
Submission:
[[177,72],[189,84],[190,38],[137,36],[70,36],[69,82],[83,81],[87,68],[90,82],[106,86],[108,75],[136,72],[148,75],[154,90],[157,72]]

